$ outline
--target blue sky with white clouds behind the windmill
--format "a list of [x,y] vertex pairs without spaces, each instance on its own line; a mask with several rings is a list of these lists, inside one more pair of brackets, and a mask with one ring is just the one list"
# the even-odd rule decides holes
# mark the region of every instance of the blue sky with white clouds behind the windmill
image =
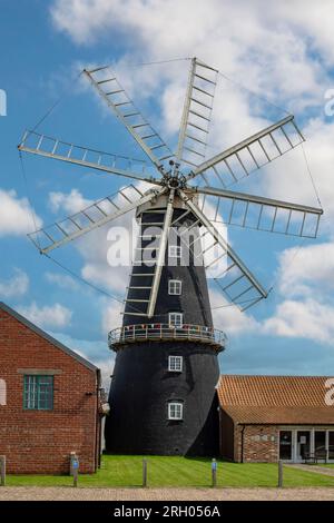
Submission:
[[[1,1],[0,89],[8,115],[0,117],[0,299],[79,349],[112,367],[109,328],[120,325],[119,302],[73,279],[42,257],[27,239],[38,223],[52,223],[80,204],[110,195],[121,178],[23,156],[17,145],[60,98],[38,130],[110,152],[143,158],[136,144],[78,79],[86,65],[114,63],[145,115],[174,146],[186,87],[188,60],[198,56],[264,101],[220,79],[208,156],[284,116],[296,115],[305,152],[325,210],[316,241],[228,230],[234,248],[269,288],[269,298],[240,314],[220,307],[213,290],[215,324],[226,330],[223,373],[331,375],[334,367],[333,116],[324,112],[334,86],[332,2],[185,0]],[[169,13],[174,12],[173,19]],[[226,24],[226,20],[229,23]],[[134,65],[161,61],[155,66]],[[278,108],[274,107],[277,106]],[[236,190],[317,205],[302,149],[262,169]],[[129,218],[128,218],[129,220]],[[129,225],[130,221],[125,221]],[[106,262],[106,230],[55,253],[55,258],[92,285],[124,298],[127,269]]]

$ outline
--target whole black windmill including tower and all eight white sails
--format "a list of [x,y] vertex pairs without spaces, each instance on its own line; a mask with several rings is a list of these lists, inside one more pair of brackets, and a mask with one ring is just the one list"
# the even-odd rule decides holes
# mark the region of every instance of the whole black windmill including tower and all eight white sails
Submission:
[[[287,116],[207,159],[218,71],[194,58],[174,154],[109,67],[85,70],[84,75],[145,151],[149,166],[27,131],[21,151],[134,180],[116,195],[30,237],[48,254],[136,211],[140,235],[122,326],[109,334],[116,364],[107,450],[214,455],[217,355],[224,349],[225,336],[213,326],[206,269],[214,269],[220,289],[242,309],[267,296],[217,221],[315,237],[322,209],[227,189],[298,146],[303,136],[294,117]],[[143,181],[150,186],[148,190],[141,188]]]

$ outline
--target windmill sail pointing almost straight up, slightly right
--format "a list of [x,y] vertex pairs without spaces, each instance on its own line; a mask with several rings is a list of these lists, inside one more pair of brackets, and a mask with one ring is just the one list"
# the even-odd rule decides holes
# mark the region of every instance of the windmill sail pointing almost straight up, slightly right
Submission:
[[193,167],[205,158],[217,73],[193,58],[176,155],[178,161]]

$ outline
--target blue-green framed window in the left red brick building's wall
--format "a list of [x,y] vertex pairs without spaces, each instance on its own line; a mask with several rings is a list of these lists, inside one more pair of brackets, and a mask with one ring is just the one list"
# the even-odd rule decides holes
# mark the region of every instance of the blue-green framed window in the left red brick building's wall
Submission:
[[23,408],[52,411],[53,376],[24,376]]

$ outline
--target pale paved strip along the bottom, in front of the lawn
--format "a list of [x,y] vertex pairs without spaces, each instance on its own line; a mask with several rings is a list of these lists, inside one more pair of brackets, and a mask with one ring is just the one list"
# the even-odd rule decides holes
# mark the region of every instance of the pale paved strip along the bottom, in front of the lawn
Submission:
[[0,501],[334,501],[334,489],[0,487]]

